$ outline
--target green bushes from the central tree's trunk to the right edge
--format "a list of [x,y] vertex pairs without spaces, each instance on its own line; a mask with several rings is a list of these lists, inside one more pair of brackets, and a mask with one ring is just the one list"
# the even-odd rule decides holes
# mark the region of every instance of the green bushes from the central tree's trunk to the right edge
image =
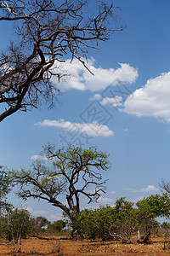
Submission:
[[114,207],[85,209],[77,216],[71,216],[71,227],[90,240],[131,243],[138,234],[139,242],[145,243],[149,241],[151,232],[159,227],[156,218],[169,216],[169,200],[164,194],[150,195],[137,202],[136,206],[122,197],[116,201]]

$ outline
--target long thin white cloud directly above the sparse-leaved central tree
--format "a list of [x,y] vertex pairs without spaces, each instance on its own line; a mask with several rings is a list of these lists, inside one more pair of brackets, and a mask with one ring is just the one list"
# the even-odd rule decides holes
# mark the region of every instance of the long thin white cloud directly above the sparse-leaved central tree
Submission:
[[61,127],[65,129],[65,131],[78,131],[81,133],[85,133],[89,136],[104,136],[104,137],[110,137],[114,134],[113,131],[109,129],[106,125],[99,125],[98,122],[94,121],[93,123],[75,123],[70,121],[65,121],[65,119],[59,119],[58,120],[48,120],[45,119],[42,122],[38,122],[35,125],[42,125],[42,126],[48,126],[48,127]]

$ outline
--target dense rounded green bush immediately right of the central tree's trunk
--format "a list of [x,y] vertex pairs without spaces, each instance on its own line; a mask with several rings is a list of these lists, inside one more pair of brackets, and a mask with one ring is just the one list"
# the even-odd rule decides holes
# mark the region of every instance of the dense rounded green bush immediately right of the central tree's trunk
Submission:
[[[133,203],[125,198],[116,201],[115,207],[99,207],[83,210],[72,224],[78,224],[87,239],[119,240],[131,243],[135,226]],[[77,219],[78,218],[78,219]]]

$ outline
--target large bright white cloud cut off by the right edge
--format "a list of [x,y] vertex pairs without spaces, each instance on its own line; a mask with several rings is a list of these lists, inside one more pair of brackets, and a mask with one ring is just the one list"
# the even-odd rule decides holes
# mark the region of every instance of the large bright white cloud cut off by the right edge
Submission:
[[170,122],[170,72],[149,79],[143,88],[127,97],[124,111],[137,116],[153,116]]

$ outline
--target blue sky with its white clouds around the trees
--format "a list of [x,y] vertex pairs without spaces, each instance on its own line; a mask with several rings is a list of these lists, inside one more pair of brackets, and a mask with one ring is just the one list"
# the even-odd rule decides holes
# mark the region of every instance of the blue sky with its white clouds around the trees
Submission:
[[[29,166],[47,142],[58,148],[94,145],[110,153],[112,168],[104,173],[109,181],[99,200],[102,205],[113,205],[121,196],[138,201],[160,193],[158,182],[170,178],[170,3],[114,3],[122,8],[118,15],[127,29],[89,51],[94,76],[81,63],[67,60],[63,68],[72,76],[56,84],[63,93],[55,109],[15,113],[0,124],[0,162],[8,168]],[[1,24],[1,49],[11,38],[7,28]],[[51,220],[61,216],[44,202],[23,202],[12,194],[10,200],[34,215]]]

